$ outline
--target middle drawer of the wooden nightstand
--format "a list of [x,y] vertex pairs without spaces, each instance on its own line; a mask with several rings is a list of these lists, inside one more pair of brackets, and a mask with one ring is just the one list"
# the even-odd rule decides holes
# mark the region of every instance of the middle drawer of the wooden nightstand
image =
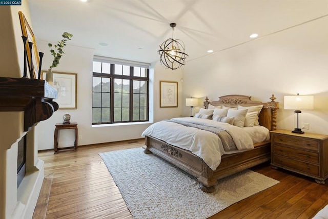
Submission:
[[274,145],[273,152],[289,157],[298,158],[305,162],[313,162],[319,164],[319,153],[311,151],[303,151],[295,148]]

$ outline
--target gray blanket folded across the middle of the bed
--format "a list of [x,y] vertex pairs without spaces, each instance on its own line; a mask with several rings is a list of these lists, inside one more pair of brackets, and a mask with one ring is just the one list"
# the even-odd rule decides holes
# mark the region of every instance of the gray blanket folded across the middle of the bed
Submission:
[[183,126],[193,127],[193,128],[212,132],[212,133],[216,134],[217,136],[219,136],[225,151],[237,150],[237,147],[234,143],[232,136],[226,130],[223,130],[221,128],[211,127],[211,126],[203,126],[203,125],[198,125],[198,124],[189,123],[189,122],[176,121],[176,120],[164,120],[164,121],[178,123]]

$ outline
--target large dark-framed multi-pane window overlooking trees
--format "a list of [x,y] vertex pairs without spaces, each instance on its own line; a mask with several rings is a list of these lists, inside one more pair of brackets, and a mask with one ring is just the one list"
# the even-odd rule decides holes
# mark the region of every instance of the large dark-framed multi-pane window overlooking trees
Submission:
[[148,121],[149,64],[94,58],[92,124]]

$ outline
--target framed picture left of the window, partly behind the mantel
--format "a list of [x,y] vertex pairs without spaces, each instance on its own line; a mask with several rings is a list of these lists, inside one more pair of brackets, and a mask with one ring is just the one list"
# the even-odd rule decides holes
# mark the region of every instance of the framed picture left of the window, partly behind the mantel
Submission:
[[[46,71],[43,71],[46,78]],[[57,90],[57,99],[54,101],[59,109],[76,109],[77,103],[77,74],[53,71],[53,87]]]

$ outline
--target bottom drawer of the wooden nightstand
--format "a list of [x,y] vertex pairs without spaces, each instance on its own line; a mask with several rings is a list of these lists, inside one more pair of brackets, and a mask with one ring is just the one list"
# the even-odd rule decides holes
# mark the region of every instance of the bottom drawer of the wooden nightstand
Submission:
[[274,164],[281,165],[283,167],[289,167],[295,170],[302,171],[304,173],[309,173],[312,175],[319,175],[319,166],[314,164],[309,164],[306,162],[296,161],[288,157],[279,156],[277,154],[273,155]]

